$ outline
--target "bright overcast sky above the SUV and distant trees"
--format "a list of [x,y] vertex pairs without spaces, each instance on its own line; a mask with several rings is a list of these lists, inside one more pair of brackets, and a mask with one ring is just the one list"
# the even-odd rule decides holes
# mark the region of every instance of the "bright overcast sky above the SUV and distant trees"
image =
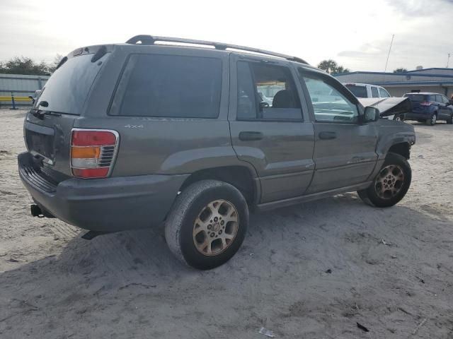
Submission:
[[151,34],[334,59],[352,71],[445,67],[453,0],[0,0],[0,61],[52,61],[77,47]]

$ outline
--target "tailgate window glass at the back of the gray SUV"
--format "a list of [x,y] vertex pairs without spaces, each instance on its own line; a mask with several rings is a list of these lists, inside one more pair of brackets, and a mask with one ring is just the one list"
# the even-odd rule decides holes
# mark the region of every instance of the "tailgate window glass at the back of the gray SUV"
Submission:
[[[110,53],[101,60],[105,60]],[[42,88],[35,109],[64,114],[81,114],[88,92],[103,63],[91,62],[93,54],[84,54],[68,59],[55,71]],[[47,107],[37,107],[47,101]]]

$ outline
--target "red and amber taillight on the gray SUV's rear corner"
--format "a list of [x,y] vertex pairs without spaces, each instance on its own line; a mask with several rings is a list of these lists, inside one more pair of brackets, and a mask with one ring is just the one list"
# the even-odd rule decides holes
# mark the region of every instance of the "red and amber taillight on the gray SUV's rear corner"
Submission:
[[119,135],[105,129],[72,129],[71,171],[74,177],[108,177],[115,161]]

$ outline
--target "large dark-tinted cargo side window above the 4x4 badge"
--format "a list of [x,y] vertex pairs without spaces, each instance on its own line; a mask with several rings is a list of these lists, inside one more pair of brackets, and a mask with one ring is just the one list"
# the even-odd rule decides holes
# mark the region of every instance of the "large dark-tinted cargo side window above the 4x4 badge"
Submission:
[[132,54],[110,114],[216,118],[221,86],[220,59]]

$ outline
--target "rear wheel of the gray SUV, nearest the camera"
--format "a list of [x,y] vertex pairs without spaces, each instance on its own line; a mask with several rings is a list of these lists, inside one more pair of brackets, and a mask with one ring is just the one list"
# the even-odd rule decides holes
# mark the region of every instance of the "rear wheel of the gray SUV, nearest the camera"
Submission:
[[226,182],[202,180],[176,198],[165,237],[180,261],[208,270],[236,254],[247,227],[248,206],[241,192]]

